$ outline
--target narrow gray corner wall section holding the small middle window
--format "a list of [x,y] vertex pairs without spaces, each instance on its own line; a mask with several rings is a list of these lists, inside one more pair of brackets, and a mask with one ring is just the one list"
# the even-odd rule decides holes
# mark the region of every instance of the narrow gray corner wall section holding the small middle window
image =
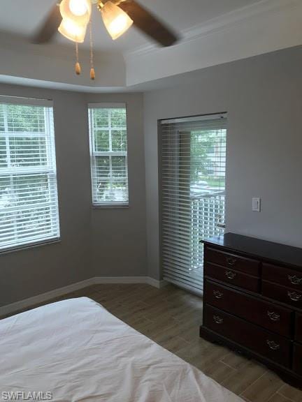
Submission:
[[92,267],[95,276],[147,274],[145,156],[142,94],[89,94],[86,102],[127,104],[129,208],[92,209]]

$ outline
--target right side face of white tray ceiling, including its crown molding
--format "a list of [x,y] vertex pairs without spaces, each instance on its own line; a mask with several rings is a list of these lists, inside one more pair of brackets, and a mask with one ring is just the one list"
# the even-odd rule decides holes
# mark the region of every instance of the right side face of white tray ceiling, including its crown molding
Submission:
[[141,47],[126,54],[127,86],[301,45],[302,1],[261,0],[182,36],[171,47]]

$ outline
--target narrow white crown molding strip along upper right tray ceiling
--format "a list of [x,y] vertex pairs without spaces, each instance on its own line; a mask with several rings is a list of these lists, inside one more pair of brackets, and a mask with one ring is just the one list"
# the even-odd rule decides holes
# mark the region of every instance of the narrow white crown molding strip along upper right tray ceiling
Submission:
[[264,17],[271,13],[281,13],[285,9],[297,6],[301,6],[300,0],[261,0],[258,3],[238,8],[182,31],[180,33],[180,43],[176,43],[171,47],[143,45],[129,52],[124,52],[124,59],[128,61],[129,59],[141,57],[146,54],[165,52],[168,49],[178,47],[179,44],[189,43],[192,40],[198,40],[211,34],[225,31],[226,29],[232,28],[235,24],[246,22],[247,20],[254,19],[254,17]]

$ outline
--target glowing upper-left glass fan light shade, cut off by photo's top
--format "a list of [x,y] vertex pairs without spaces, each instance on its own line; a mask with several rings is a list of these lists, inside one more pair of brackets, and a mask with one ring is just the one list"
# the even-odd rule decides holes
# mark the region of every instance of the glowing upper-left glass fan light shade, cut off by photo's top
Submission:
[[87,25],[92,13],[90,0],[62,0],[59,10],[63,20],[72,20],[79,25]]

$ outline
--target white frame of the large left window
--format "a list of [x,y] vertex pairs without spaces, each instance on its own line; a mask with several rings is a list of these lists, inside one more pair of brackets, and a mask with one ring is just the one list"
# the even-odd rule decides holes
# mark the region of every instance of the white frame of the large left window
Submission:
[[[23,98],[20,96],[3,96],[0,95],[0,104],[1,105],[19,105],[19,106],[31,106],[31,107],[43,107],[44,108],[44,124],[45,131],[44,132],[34,132],[34,131],[8,131],[8,126],[3,132],[0,132],[1,137],[6,142],[6,151],[10,147],[8,147],[8,143],[10,138],[14,137],[36,137],[36,138],[45,138],[45,165],[37,165],[37,166],[22,166],[17,168],[1,168],[0,176],[1,177],[9,177],[10,180],[13,177],[24,177],[30,174],[37,175],[39,177],[40,174],[45,174],[48,177],[49,183],[51,185],[48,188],[49,193],[54,191],[54,195],[52,196],[52,202],[50,202],[50,216],[51,222],[50,227],[55,227],[53,232],[56,232],[55,236],[46,236],[43,239],[42,232],[40,233],[41,239],[30,239],[21,241],[19,243],[12,244],[11,246],[1,246],[0,245],[0,255],[3,253],[10,253],[13,251],[19,251],[22,249],[37,247],[37,246],[45,246],[48,244],[59,243],[61,241],[60,234],[60,214],[59,214],[59,195],[58,195],[58,186],[57,186],[57,158],[56,158],[56,146],[55,146],[55,124],[54,124],[54,108],[53,101],[50,99],[39,99],[39,98]],[[46,110],[45,108],[48,108]],[[3,115],[4,117],[4,115]],[[6,119],[8,118],[8,114]],[[5,120],[4,120],[5,124]],[[6,123],[7,124],[7,123]],[[8,155],[8,159],[10,159],[10,154]],[[41,154],[39,154],[41,158]],[[6,171],[5,171],[6,170]],[[43,203],[36,202],[34,204],[35,207],[39,208],[43,206]],[[9,207],[9,212],[20,211],[20,206]],[[24,207],[26,211],[27,208]],[[53,218],[55,216],[55,218]],[[33,235],[33,237],[35,237]],[[12,242],[13,243],[13,242]]]

